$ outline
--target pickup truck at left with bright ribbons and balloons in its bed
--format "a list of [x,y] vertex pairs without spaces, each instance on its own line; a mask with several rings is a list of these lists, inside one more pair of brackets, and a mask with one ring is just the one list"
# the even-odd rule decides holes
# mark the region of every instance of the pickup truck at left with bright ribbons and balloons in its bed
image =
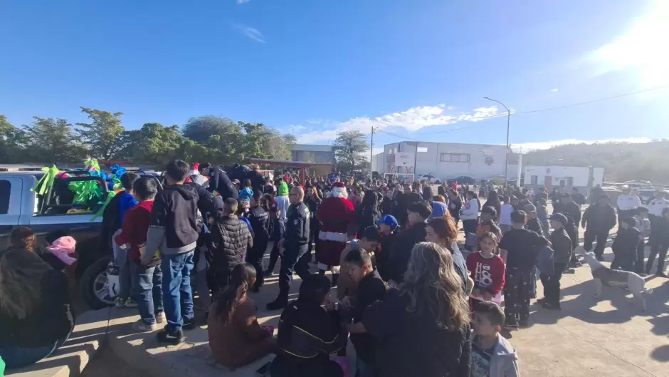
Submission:
[[31,188],[43,172],[0,172],[0,250],[9,246],[9,234],[14,227],[30,227],[42,244],[49,232],[67,232],[77,240],[77,277],[83,299],[91,308],[101,309],[113,304],[107,288],[111,244],[100,239],[102,216],[95,216],[98,212],[95,207],[92,212],[68,213],[73,208],[74,197],[68,185],[71,182],[98,181],[104,196],[102,202],[109,192],[106,182],[100,177],[76,175],[74,171],[68,174],[70,177],[56,178],[53,185],[39,195]]

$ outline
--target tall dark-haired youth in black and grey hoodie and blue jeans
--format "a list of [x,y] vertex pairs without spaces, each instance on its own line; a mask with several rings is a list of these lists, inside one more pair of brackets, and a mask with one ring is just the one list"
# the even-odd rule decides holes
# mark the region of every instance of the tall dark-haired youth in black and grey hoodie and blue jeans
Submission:
[[181,326],[194,329],[193,292],[190,273],[199,237],[197,221],[199,196],[195,185],[184,185],[189,165],[172,160],[165,169],[167,185],[158,192],[151,210],[147,244],[142,264],[152,262],[154,251],[162,256],[163,301],[167,326],[158,333],[158,341],[179,344],[184,341]]

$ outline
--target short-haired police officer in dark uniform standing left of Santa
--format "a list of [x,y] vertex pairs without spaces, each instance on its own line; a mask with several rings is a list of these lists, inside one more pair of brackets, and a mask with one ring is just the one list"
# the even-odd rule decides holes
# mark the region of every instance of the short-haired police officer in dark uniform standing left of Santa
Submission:
[[305,205],[305,191],[300,186],[290,189],[290,207],[285,222],[285,233],[280,241],[281,269],[279,271],[279,295],[267,304],[268,310],[283,309],[288,305],[288,291],[293,280],[293,271],[300,279],[309,274],[307,247],[309,243],[309,207]]

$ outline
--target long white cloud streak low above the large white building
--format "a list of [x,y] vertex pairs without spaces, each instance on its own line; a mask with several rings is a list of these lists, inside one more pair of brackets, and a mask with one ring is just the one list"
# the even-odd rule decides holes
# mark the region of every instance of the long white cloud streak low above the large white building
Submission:
[[[330,141],[337,138],[337,133],[349,130],[359,130],[369,133],[372,127],[382,130],[389,127],[401,127],[409,131],[417,131],[421,128],[434,125],[450,125],[458,122],[478,122],[498,116],[497,106],[489,108],[475,108],[470,113],[447,114],[450,106],[417,106],[399,113],[390,113],[379,117],[362,116],[351,118],[344,122],[321,121],[320,130],[310,133],[302,133],[297,136],[300,143],[315,143],[317,141]],[[312,123],[312,125],[314,125]],[[323,130],[325,128],[325,130]],[[310,127],[313,129],[313,127]]]

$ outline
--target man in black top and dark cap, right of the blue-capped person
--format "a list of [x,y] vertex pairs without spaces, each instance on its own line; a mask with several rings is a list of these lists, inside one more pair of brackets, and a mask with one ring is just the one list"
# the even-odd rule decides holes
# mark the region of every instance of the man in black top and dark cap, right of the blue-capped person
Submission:
[[432,207],[427,202],[413,202],[408,212],[408,229],[397,234],[389,256],[389,280],[399,284],[404,279],[411,249],[418,242],[425,241],[426,221],[432,215]]

